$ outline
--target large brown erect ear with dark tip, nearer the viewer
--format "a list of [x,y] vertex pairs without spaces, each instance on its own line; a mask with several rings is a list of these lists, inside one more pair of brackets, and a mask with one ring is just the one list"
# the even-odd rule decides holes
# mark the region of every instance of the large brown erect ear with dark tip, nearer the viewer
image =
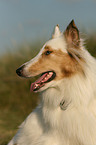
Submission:
[[68,47],[73,48],[79,48],[80,46],[80,36],[79,36],[79,30],[76,27],[74,20],[70,22],[70,24],[67,26],[64,36],[67,41]]

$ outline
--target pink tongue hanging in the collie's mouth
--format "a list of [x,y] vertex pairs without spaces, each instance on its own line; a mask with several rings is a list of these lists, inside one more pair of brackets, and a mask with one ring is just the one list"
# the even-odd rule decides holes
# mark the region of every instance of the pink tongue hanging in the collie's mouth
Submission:
[[[34,83],[31,84],[30,87],[30,91],[34,91],[34,89],[42,86],[41,85],[41,81],[47,76],[48,73],[45,73],[44,75],[42,75],[38,80],[36,80]],[[36,87],[36,84],[38,84],[38,86]],[[43,84],[44,85],[44,84]]]

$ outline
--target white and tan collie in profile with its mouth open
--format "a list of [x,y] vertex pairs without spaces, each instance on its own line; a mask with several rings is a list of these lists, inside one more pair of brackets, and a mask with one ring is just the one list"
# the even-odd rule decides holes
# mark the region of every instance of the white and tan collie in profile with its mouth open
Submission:
[[96,145],[96,60],[84,48],[79,30],[70,22],[39,54],[16,70],[38,79],[39,106],[21,124],[8,145]]

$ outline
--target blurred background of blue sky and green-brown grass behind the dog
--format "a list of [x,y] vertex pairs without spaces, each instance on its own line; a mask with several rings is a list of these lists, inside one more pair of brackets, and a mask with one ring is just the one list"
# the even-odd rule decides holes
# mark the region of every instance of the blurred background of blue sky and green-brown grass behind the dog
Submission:
[[19,78],[16,69],[38,53],[56,24],[64,31],[72,19],[96,56],[96,0],[0,0],[0,145],[38,104],[38,94],[30,93],[35,78]]

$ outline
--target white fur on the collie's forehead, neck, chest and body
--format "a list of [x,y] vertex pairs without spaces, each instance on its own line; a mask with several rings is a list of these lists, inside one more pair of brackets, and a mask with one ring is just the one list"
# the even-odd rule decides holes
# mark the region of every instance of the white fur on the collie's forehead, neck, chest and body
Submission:
[[[46,44],[67,53],[62,39]],[[40,95],[40,105],[8,145],[96,145],[96,60],[83,47],[81,56],[85,75],[49,83]],[[66,110],[59,106],[62,99],[71,102]]]

